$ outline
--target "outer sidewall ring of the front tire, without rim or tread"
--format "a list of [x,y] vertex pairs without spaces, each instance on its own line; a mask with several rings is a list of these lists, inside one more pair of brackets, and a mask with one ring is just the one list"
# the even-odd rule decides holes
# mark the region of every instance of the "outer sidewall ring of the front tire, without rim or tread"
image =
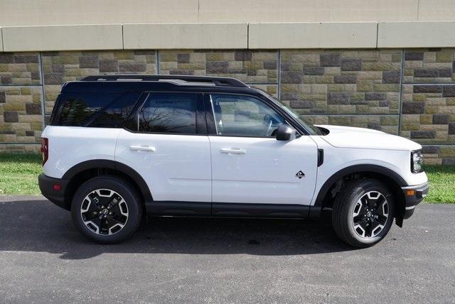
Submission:
[[[365,193],[370,191],[377,191],[385,196],[385,199],[387,200],[387,203],[389,205],[388,206],[389,216],[387,217],[387,222],[385,223],[384,228],[381,230],[381,232],[376,237],[367,239],[360,237],[357,234],[357,232],[355,232],[352,215],[354,212],[355,205],[357,204],[358,200],[360,200],[360,197],[362,197],[363,195],[365,195]],[[348,203],[349,203],[349,207],[347,208],[348,215],[346,216],[347,227],[349,233],[352,235],[355,241],[358,241],[361,244],[373,245],[375,243],[378,243],[378,241],[385,237],[385,235],[389,232],[390,227],[392,227],[394,218],[393,211],[395,210],[395,202],[393,200],[393,196],[390,190],[388,190],[388,188],[385,187],[385,185],[382,185],[382,183],[373,180],[368,181],[365,184],[361,185],[360,187],[355,188],[355,192],[353,193],[353,195],[350,196],[350,200]]]

